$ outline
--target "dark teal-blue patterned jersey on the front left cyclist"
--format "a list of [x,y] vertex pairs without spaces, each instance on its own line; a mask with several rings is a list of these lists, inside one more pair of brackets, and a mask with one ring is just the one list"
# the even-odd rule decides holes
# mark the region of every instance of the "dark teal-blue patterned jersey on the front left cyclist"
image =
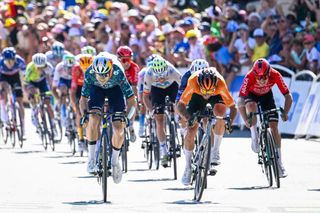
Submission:
[[[129,84],[122,67],[113,63],[113,73],[106,84],[100,84],[96,79],[95,72],[92,70],[92,66],[88,68],[84,75],[84,84],[82,87],[81,95],[84,97],[90,96],[91,87],[99,87],[102,89],[110,89],[119,86],[124,96],[128,99],[134,95],[131,85]],[[118,97],[121,98],[121,97]]]

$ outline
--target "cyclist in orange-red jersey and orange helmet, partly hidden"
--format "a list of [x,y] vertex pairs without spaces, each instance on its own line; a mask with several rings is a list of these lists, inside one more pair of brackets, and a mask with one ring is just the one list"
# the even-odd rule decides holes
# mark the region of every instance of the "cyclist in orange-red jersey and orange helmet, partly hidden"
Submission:
[[83,129],[80,126],[80,109],[79,109],[79,100],[81,97],[81,90],[84,81],[84,73],[88,67],[92,64],[93,56],[90,54],[80,54],[77,56],[78,64],[74,65],[72,68],[72,80],[71,80],[71,92],[70,100],[73,110],[76,112],[76,124],[78,129],[79,143],[78,148],[79,152],[83,151],[85,146],[85,141],[83,137]]

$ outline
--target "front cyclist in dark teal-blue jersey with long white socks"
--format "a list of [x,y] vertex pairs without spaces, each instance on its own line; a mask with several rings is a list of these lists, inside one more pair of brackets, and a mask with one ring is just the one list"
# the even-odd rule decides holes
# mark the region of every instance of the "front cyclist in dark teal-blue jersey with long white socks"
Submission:
[[[80,110],[82,116],[85,111],[100,112],[102,110],[105,98],[108,98],[109,112],[124,112],[127,107],[127,113],[136,107],[136,99],[133,89],[124,74],[118,62],[113,62],[116,58],[100,54],[94,57],[92,65],[85,73],[84,85],[81,92]],[[126,101],[125,101],[126,99]],[[127,106],[126,106],[127,104]],[[101,118],[98,115],[90,114],[87,124],[88,139],[88,167],[89,173],[95,173],[95,149],[96,142],[99,139],[99,129]],[[122,169],[119,163],[119,153],[124,141],[125,124],[117,115],[112,116],[112,177],[115,183],[120,183],[122,179]]]

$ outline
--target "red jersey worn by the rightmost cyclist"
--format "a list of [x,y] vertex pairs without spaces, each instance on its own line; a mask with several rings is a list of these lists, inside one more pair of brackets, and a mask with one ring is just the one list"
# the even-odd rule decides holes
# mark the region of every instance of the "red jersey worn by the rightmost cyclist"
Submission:
[[274,84],[277,84],[283,95],[289,93],[287,84],[283,81],[281,74],[277,70],[270,68],[268,82],[263,86],[259,85],[254,72],[250,70],[243,79],[239,96],[246,97],[248,96],[249,92],[257,96],[265,95],[271,90]]

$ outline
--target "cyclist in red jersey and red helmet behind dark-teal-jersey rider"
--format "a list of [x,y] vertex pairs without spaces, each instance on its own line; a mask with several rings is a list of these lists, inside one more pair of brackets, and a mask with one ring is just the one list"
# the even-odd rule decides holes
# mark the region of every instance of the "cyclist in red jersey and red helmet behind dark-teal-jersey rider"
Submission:
[[[127,77],[127,80],[129,84],[133,88],[133,92],[135,96],[137,97],[137,84],[138,84],[138,73],[140,71],[139,66],[132,61],[132,50],[128,46],[120,46],[117,50],[117,56],[119,61],[121,62],[125,75]],[[135,116],[132,116],[132,119],[130,121],[130,141],[135,142],[136,141],[136,134],[133,129],[133,122],[134,122]]]

